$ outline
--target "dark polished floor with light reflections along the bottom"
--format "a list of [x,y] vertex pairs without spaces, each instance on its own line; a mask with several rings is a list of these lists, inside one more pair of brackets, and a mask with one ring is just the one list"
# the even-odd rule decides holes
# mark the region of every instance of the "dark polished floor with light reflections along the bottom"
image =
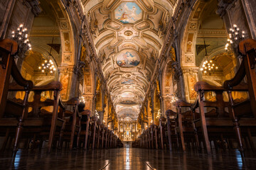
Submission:
[[0,169],[256,169],[256,154],[246,152],[242,162],[237,150],[218,152],[211,156],[195,151],[119,148],[102,150],[73,150],[46,154],[19,150],[16,158],[0,153]]

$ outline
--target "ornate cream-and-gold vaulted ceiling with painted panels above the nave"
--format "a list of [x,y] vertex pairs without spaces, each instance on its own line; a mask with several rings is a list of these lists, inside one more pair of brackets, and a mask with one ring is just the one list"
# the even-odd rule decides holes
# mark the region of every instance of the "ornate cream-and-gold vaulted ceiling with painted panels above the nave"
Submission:
[[82,1],[121,120],[137,119],[175,1]]

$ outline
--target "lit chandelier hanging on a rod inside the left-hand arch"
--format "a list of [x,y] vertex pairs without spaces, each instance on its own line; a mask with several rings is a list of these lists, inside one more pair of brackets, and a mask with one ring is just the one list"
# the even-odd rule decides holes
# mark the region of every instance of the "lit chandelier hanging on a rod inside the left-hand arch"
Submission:
[[[53,49],[53,40],[52,45],[50,46],[50,53],[48,58],[52,57],[51,51]],[[53,60],[43,59],[43,63],[38,67],[39,70],[41,70],[42,73],[47,74],[53,74],[56,71],[56,68],[53,64]]]

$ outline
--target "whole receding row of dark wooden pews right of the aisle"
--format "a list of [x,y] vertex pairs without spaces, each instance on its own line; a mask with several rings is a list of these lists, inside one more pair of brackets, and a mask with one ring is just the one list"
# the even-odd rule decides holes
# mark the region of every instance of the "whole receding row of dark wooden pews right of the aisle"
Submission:
[[[255,150],[256,136],[256,40],[240,42],[242,62],[235,77],[223,86],[198,81],[195,103],[176,101],[176,112],[166,111],[159,125],[151,125],[133,143],[133,147],[150,149],[188,148],[212,154],[213,146],[233,148],[244,157],[245,146]],[[247,83],[245,83],[247,82]],[[208,99],[207,95],[214,94]],[[247,98],[235,98],[235,93],[246,92]]]

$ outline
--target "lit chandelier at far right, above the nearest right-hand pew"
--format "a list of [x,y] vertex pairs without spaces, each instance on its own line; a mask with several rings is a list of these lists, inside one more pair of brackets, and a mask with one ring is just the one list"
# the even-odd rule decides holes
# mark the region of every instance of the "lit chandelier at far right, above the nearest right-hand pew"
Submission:
[[228,30],[228,40],[225,45],[225,50],[228,50],[228,47],[233,47],[235,53],[238,55],[238,45],[241,40],[245,39],[245,31],[240,30],[236,24],[233,25],[233,28]]

